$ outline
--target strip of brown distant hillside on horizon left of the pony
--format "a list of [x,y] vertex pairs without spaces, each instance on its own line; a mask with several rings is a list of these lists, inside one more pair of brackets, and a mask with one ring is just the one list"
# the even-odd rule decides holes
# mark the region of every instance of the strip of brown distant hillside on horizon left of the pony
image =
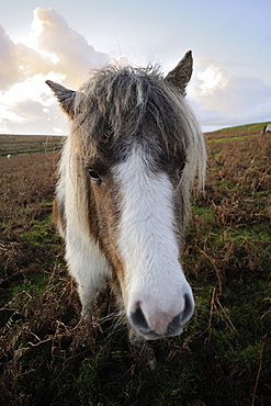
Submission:
[[0,135],[0,155],[41,153],[60,148],[65,136]]

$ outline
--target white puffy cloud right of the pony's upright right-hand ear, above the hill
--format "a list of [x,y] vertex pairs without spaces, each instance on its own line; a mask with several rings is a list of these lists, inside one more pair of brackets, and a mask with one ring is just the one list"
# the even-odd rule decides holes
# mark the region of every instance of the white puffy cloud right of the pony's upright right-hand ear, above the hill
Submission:
[[253,77],[230,76],[219,61],[202,59],[189,97],[202,125],[234,125],[271,119],[271,86]]

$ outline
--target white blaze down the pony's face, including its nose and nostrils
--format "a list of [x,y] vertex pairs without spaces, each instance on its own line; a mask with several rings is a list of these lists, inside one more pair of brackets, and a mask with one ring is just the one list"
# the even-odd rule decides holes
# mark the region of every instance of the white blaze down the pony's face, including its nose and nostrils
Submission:
[[128,320],[145,338],[156,339],[180,334],[194,301],[178,260],[176,192],[167,173],[151,171],[150,160],[137,146],[115,168],[121,202],[117,247]]

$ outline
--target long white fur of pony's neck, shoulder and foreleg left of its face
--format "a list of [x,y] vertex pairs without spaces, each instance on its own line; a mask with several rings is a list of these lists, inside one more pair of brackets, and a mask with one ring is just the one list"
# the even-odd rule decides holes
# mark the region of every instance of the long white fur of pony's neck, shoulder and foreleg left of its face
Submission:
[[72,154],[69,138],[64,147],[59,171],[61,177],[57,185],[57,199],[65,204],[66,229],[60,224],[60,232],[66,240],[66,260],[70,274],[78,283],[82,315],[90,320],[95,292],[104,287],[111,269],[90,235],[86,206],[80,207],[82,198],[78,199],[77,178],[82,178],[82,173],[79,173],[80,166]]

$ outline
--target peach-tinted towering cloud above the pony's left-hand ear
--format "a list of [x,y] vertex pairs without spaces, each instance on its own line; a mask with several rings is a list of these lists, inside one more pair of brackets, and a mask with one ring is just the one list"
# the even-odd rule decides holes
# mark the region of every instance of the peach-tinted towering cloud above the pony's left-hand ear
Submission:
[[69,86],[79,86],[91,68],[109,63],[108,54],[97,52],[86,37],[70,29],[55,10],[34,10],[32,37],[37,47],[13,43],[0,26],[0,90],[35,75],[54,72]]

